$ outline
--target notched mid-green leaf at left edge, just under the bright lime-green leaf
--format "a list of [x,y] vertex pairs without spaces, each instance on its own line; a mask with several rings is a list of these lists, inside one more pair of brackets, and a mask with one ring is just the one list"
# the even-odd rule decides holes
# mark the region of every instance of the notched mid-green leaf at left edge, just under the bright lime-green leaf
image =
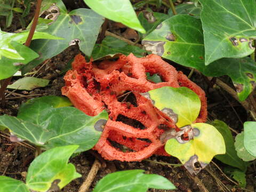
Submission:
[[29,47],[25,45],[22,45],[15,41],[10,42],[10,44],[24,59],[17,60],[2,57],[2,59],[0,59],[0,80],[11,77],[19,69],[21,69],[23,65],[26,65],[28,62],[39,57],[39,55],[36,52],[29,49]]

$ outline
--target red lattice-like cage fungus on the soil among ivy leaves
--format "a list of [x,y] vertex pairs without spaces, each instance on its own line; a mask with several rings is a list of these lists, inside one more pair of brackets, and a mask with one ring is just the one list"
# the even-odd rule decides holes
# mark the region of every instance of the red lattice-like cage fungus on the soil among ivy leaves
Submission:
[[[158,74],[163,82],[148,81],[146,73]],[[204,91],[157,55],[137,58],[131,53],[127,57],[121,55],[117,61],[86,62],[78,54],[64,79],[62,94],[76,108],[90,116],[103,109],[108,111],[109,119],[94,146],[108,160],[141,161],[153,154],[167,155],[160,137],[165,131],[178,128],[140,93],[163,86],[186,86],[201,99],[196,122],[206,121]]]

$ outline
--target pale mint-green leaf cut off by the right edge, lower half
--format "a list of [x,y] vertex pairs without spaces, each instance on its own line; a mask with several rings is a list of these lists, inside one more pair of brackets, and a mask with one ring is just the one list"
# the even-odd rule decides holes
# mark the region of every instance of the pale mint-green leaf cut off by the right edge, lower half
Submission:
[[256,122],[244,123],[244,147],[256,158]]

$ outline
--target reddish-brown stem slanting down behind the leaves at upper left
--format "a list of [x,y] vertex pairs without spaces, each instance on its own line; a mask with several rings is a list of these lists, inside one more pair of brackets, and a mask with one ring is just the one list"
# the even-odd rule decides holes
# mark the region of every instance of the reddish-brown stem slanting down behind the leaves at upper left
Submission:
[[[25,42],[25,45],[28,46],[28,47],[29,47],[29,45],[32,41],[33,35],[35,33],[35,29],[36,29],[40,9],[41,9],[41,4],[42,4],[42,0],[38,0],[37,4],[36,4],[36,12],[35,12],[34,20],[33,20],[32,26],[29,30],[28,38]],[[3,106],[3,107],[5,106],[5,94],[4,93],[5,93],[6,87],[9,85],[11,80],[12,80],[12,77],[9,77],[9,78],[3,79],[0,83],[1,84],[0,100],[1,100],[1,106]]]

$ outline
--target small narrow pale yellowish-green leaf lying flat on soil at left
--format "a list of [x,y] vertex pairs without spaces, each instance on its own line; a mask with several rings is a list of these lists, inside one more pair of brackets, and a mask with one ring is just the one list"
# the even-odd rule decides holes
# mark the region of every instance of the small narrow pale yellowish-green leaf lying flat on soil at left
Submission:
[[36,77],[23,77],[19,78],[13,84],[8,85],[8,89],[17,89],[17,90],[33,90],[38,87],[45,87],[49,84],[50,80]]

